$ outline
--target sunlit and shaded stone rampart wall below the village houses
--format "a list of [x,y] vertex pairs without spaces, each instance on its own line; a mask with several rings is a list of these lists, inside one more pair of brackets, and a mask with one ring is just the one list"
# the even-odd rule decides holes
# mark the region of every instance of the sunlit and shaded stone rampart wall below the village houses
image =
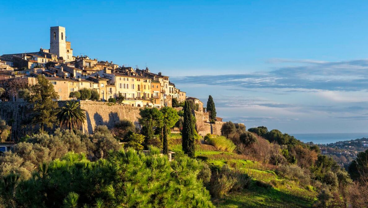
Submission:
[[[59,101],[59,106],[63,106],[66,101]],[[142,107],[131,107],[96,101],[79,101],[81,108],[86,110],[86,121],[83,131],[89,134],[93,133],[96,125],[106,125],[109,129],[114,128],[115,124],[122,119],[128,119],[135,126],[141,128],[138,123],[139,109]],[[177,110],[181,110],[178,108]],[[0,102],[0,118],[4,119],[7,125],[12,126],[11,138],[20,138],[26,134],[31,134],[32,126],[30,121],[32,116],[32,105],[27,102]],[[203,122],[202,114],[194,112],[197,119],[196,128],[199,135],[205,136],[208,133],[221,135],[221,127],[224,122],[215,124]]]

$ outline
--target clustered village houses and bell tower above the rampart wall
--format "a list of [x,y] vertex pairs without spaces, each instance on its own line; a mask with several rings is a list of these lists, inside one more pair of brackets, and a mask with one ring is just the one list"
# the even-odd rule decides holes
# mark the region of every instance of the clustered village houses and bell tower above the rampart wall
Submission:
[[[99,61],[87,55],[74,56],[71,43],[66,41],[66,29],[50,27],[50,49],[31,53],[3,54],[0,56],[0,80],[22,79],[29,85],[38,75],[45,76],[59,94],[59,100],[70,100],[71,93],[81,89],[96,90],[97,100],[123,98],[122,104],[133,107],[172,106],[173,100],[181,103],[188,97],[161,72],[152,73],[148,67],[138,69]],[[203,103],[190,98],[199,105]],[[17,95],[10,101],[22,100]]]

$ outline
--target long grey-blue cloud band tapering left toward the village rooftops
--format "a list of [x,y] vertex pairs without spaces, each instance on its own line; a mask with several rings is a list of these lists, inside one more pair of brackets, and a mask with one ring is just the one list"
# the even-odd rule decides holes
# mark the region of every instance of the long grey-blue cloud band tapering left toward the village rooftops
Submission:
[[[280,61],[280,60],[279,60]],[[270,72],[201,75],[174,78],[176,83],[236,86],[240,89],[276,88],[357,91],[368,88],[368,60],[325,62],[281,60],[303,63]]]

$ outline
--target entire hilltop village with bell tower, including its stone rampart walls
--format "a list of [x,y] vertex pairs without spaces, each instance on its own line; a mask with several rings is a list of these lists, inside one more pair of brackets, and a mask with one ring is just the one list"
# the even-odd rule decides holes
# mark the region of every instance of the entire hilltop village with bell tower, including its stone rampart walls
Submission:
[[[27,116],[19,110],[26,106],[22,104],[25,99],[20,89],[38,83],[39,75],[52,84],[58,95],[56,100],[61,105],[63,101],[78,100],[86,110],[87,120],[83,129],[89,133],[96,125],[113,128],[123,117],[139,127],[139,108],[177,108],[190,100],[199,135],[221,134],[222,118],[210,120],[203,102],[188,97],[186,92],[170,82],[169,76],[161,72],[152,73],[148,67],[132,68],[87,55],[75,56],[66,38],[64,27],[50,27],[50,49],[0,56],[0,89],[6,89],[0,97],[0,116],[7,122],[13,121],[12,138],[18,136],[20,122]],[[83,95],[86,91],[89,93],[87,97]]]

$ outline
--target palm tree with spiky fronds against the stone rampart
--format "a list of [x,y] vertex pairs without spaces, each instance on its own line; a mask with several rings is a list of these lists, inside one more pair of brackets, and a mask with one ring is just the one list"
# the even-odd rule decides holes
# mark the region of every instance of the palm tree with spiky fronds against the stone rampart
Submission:
[[56,114],[60,127],[63,129],[81,129],[86,120],[86,111],[80,108],[77,101],[67,101],[64,107],[58,108]]

